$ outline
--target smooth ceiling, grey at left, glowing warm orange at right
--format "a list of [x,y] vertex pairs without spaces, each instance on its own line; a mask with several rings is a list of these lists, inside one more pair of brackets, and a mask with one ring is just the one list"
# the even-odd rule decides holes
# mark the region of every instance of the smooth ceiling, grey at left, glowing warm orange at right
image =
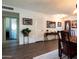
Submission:
[[2,0],[2,4],[45,14],[72,14],[76,0]]

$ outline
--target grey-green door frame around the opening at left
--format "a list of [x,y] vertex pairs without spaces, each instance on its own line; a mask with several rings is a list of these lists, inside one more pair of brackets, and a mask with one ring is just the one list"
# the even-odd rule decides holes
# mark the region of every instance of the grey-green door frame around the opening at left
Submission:
[[[11,16],[7,16],[7,15],[4,15],[5,13],[9,13],[9,14],[13,14],[13,17],[12,17],[12,15]],[[18,17],[16,17],[15,16],[15,14],[18,16]],[[17,18],[17,43],[18,43],[18,45],[19,45],[19,13],[16,13],[16,12],[8,12],[8,11],[2,11],[2,19],[4,18],[4,17],[12,17],[12,18]],[[4,43],[4,42],[6,42],[6,38],[4,37],[5,35],[6,35],[6,33],[4,33],[5,32],[5,28],[4,28],[4,19],[2,20],[2,29],[3,29],[3,33],[2,33],[2,43]]]

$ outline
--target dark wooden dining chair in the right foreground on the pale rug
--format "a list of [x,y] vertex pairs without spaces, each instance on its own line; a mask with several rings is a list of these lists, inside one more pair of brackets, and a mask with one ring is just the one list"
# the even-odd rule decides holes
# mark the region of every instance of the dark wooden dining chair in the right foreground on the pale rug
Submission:
[[77,55],[77,46],[75,43],[70,42],[68,32],[58,31],[58,50],[60,59],[62,59],[63,54],[68,56],[68,59],[72,59]]

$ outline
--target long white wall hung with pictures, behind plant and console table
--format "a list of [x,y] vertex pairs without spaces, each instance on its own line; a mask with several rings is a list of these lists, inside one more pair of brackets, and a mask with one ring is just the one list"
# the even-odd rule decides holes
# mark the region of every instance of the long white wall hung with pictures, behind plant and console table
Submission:
[[[11,7],[13,7],[13,6],[11,6]],[[64,24],[63,19],[57,18],[54,15],[47,15],[47,14],[34,12],[34,11],[30,11],[30,10],[24,10],[24,9],[20,9],[20,8],[16,8],[16,7],[13,7],[13,8],[14,8],[14,10],[6,10],[6,9],[2,9],[2,10],[19,13],[19,15],[20,15],[20,17],[19,17],[19,44],[23,44],[23,35],[21,33],[21,30],[24,28],[31,29],[29,43],[44,40],[44,33],[46,32],[47,29],[49,31],[57,31],[57,30],[64,29],[63,28],[63,24]],[[23,25],[22,24],[23,17],[32,18],[33,24],[32,25]],[[47,20],[55,21],[56,26],[57,26],[57,22],[62,22],[62,27],[46,28]]]

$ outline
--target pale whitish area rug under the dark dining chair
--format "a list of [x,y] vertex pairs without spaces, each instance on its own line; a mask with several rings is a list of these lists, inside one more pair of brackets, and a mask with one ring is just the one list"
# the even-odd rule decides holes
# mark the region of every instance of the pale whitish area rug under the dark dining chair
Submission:
[[[45,54],[42,54],[42,55],[39,55],[39,56],[36,56],[36,57],[33,57],[33,59],[59,59],[58,49],[45,53]],[[62,59],[68,59],[68,58],[67,58],[67,56],[63,55]],[[74,57],[73,59],[77,59],[77,57]]]

